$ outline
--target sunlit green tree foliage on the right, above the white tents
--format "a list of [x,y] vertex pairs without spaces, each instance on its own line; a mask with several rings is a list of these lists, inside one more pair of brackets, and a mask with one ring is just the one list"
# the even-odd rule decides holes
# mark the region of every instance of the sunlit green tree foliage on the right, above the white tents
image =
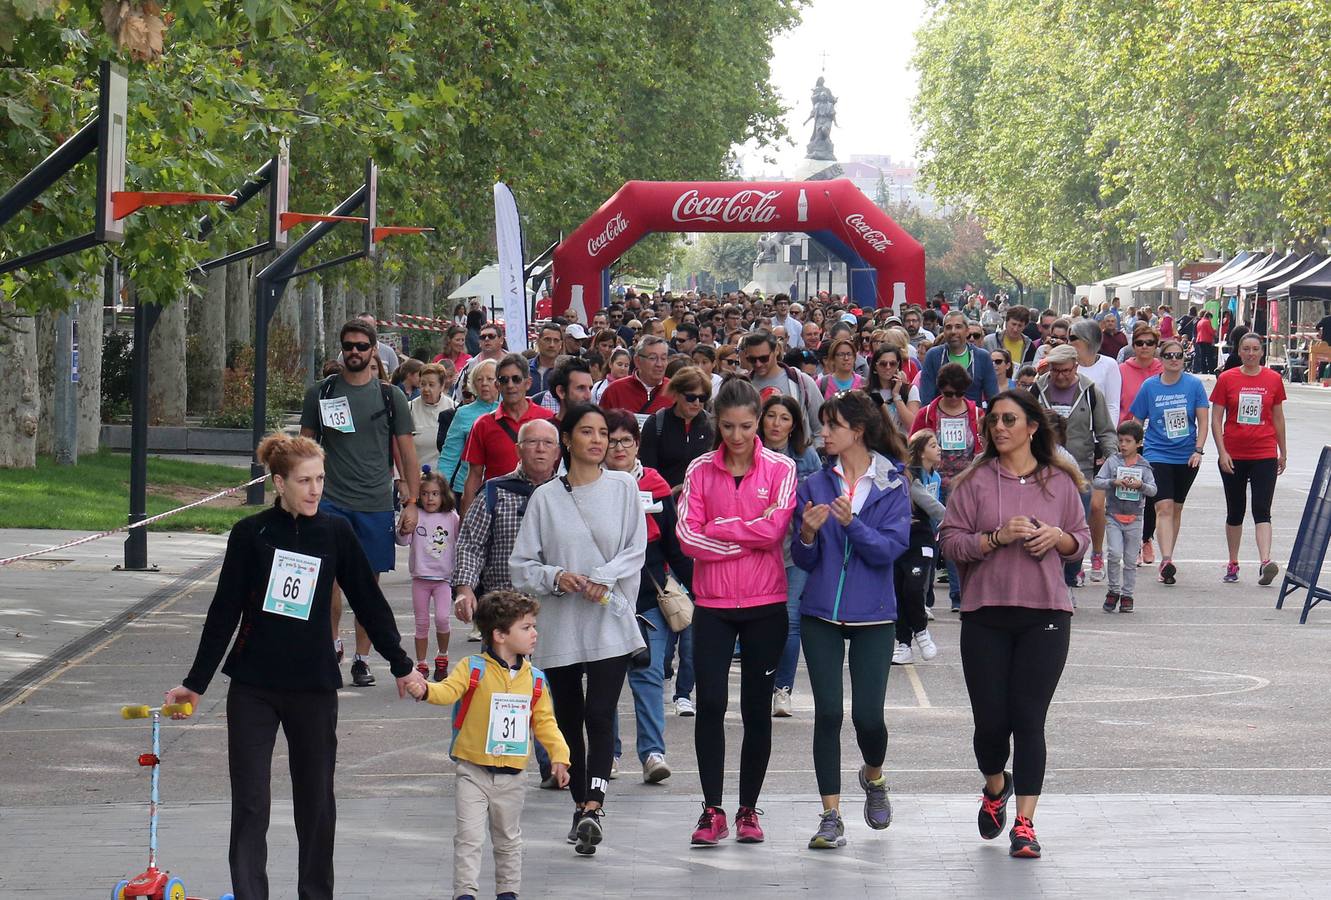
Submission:
[[1030,281],[1254,244],[1331,217],[1331,8],[1306,0],[938,0],[916,120],[936,194]]

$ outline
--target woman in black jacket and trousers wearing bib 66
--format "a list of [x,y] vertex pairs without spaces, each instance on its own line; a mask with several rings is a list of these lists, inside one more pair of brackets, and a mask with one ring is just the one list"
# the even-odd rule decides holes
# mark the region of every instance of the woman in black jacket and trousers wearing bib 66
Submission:
[[258,459],[273,474],[277,502],[232,529],[194,664],[182,684],[166,691],[166,702],[197,707],[236,635],[222,666],[232,679],[226,695],[232,889],[246,900],[269,896],[270,780],[281,726],[291,756],[297,896],[325,900],[333,897],[333,770],[342,687],[329,640],[334,580],[374,648],[389,660],[398,695],[421,675],[402,650],[393,610],[351,525],[319,513],[322,447],[309,438],[272,434],[260,443]]

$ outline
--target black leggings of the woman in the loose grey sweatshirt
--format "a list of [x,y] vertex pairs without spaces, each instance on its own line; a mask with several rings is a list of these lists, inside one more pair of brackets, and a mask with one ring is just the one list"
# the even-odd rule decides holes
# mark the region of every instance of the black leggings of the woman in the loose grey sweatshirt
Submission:
[[606,803],[610,763],[615,756],[615,707],[627,674],[628,656],[546,670],[555,722],[568,743],[568,758],[572,760],[568,766],[568,792],[578,805],[587,800]]

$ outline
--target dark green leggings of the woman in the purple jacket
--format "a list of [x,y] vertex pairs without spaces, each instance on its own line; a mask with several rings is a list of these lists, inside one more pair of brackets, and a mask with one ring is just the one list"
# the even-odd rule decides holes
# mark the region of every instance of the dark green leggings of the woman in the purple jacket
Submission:
[[837,624],[811,615],[800,618],[804,663],[813,688],[813,772],[819,795],[841,793],[841,722],[845,699],[841,672],[851,644],[851,722],[865,766],[877,768],[888,755],[888,724],[882,699],[892,670],[890,624]]

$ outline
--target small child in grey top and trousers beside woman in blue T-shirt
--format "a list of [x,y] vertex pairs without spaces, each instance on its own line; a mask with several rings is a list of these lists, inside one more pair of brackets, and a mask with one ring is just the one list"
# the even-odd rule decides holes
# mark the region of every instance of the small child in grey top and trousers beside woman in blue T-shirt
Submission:
[[[1105,491],[1105,550],[1109,557],[1109,592],[1105,612],[1117,606],[1133,611],[1137,554],[1142,546],[1142,513],[1155,497],[1155,474],[1142,457],[1142,425],[1129,419],[1118,426],[1118,453],[1095,473],[1093,486]],[[1127,554],[1131,557],[1127,557]],[[1122,574],[1119,574],[1122,572]]]

